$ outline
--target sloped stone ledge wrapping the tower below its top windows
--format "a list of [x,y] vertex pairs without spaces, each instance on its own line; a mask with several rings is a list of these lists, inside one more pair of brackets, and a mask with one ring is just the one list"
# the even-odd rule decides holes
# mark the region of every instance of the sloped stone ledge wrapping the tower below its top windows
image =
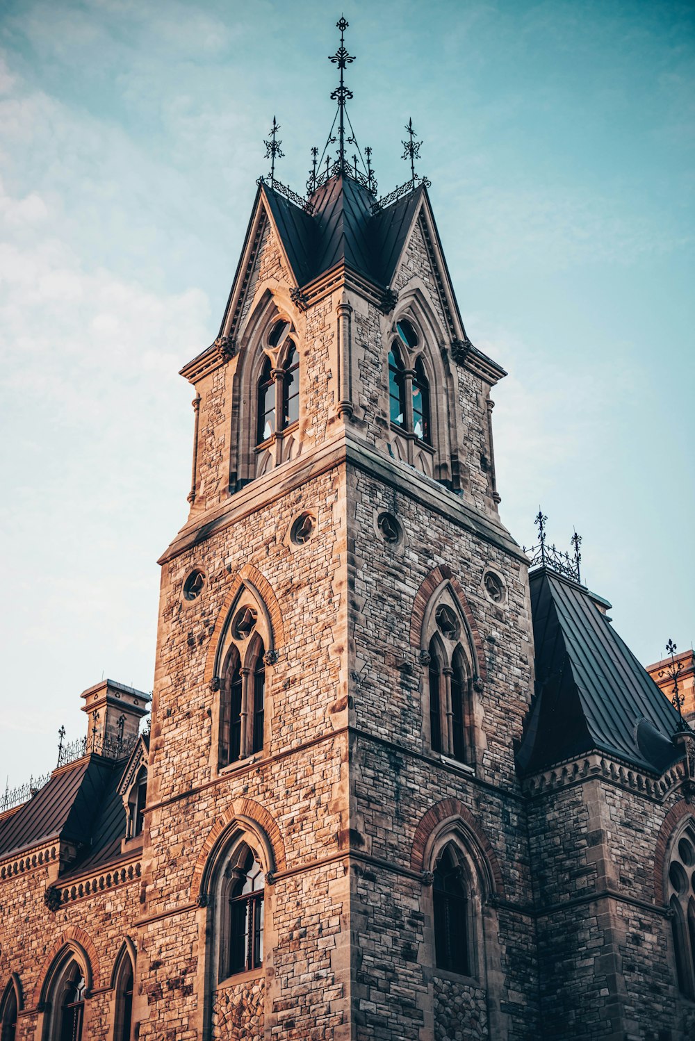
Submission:
[[358,440],[348,428],[341,430],[333,439],[309,452],[303,452],[297,459],[256,478],[239,491],[230,494],[222,506],[196,514],[195,518],[181,529],[158,562],[164,564],[175,559],[179,554],[195,547],[201,537],[209,538],[213,533],[223,531],[242,517],[250,516],[282,499],[307,481],[345,464],[354,465],[369,474],[401,494],[447,517],[465,531],[496,545],[527,565],[526,557],[501,524],[480,513],[473,506],[448,491],[433,478],[407,463],[382,455],[376,449]]

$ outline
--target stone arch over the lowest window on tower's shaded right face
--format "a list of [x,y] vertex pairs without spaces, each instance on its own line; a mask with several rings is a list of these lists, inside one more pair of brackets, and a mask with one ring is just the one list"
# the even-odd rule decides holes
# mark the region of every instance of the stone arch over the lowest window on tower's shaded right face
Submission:
[[464,835],[469,849],[477,854],[477,865],[490,892],[504,896],[505,881],[490,840],[470,810],[458,798],[441,799],[420,818],[410,852],[411,870],[423,871],[437,840],[456,831]]

